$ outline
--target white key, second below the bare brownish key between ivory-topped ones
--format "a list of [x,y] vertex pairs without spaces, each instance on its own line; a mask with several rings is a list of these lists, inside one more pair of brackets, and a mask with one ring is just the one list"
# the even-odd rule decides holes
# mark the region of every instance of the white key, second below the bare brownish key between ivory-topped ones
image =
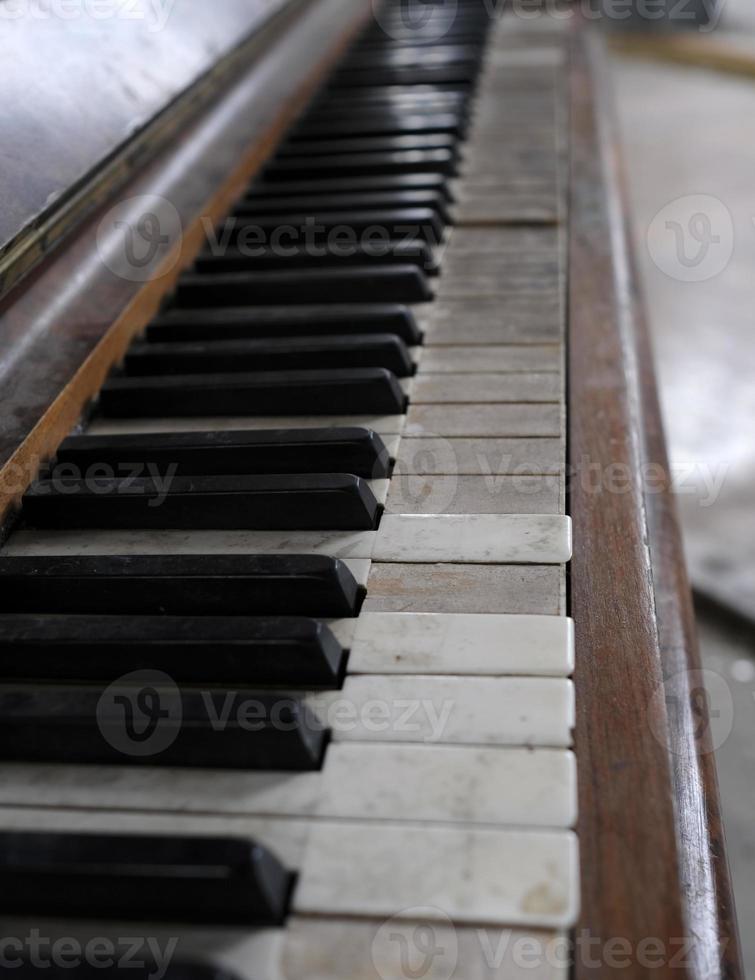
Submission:
[[574,686],[560,677],[349,675],[305,695],[336,742],[568,748]]

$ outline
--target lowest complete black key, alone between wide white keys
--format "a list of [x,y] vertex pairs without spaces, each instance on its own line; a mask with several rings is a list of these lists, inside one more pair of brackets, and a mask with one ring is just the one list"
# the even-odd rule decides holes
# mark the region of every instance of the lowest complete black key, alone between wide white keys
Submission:
[[29,831],[0,833],[0,882],[4,914],[243,926],[281,924],[293,884],[248,839]]

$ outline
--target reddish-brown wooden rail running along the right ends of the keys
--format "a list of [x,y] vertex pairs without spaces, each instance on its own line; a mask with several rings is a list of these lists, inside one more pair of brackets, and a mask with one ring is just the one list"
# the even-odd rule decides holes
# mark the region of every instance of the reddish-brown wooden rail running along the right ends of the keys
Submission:
[[[579,33],[571,79],[571,596],[579,928],[599,944],[589,962],[578,948],[575,976],[738,978],[715,764],[695,714],[694,618],[607,88],[597,41]],[[628,940],[629,969],[595,954],[617,937]],[[662,965],[643,965],[643,940],[658,941],[651,962]]]

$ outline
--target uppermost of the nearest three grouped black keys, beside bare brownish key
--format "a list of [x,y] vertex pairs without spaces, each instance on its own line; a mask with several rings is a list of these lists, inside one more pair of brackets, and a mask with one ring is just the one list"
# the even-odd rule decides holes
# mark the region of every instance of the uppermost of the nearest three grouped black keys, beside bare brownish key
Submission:
[[0,556],[0,612],[356,615],[363,590],[321,555]]

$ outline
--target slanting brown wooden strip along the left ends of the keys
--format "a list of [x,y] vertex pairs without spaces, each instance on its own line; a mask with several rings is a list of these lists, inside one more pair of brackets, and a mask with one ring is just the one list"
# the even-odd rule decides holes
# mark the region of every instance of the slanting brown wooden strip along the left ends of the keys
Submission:
[[[317,0],[180,140],[96,212],[0,303],[0,522],[76,423],[130,339],[154,316],[210,226],[273,151],[369,13],[366,0]],[[133,282],[103,261],[109,208],[159,193],[183,227]],[[99,231],[99,239],[98,239]]]

